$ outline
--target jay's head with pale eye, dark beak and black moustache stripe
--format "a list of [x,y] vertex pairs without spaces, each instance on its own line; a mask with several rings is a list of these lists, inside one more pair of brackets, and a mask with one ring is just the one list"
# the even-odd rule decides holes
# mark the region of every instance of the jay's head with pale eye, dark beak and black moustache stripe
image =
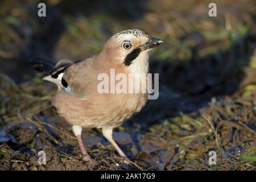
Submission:
[[143,31],[133,29],[113,35],[105,43],[103,50],[108,56],[111,56],[112,61],[125,64],[129,67],[135,64],[135,62],[141,62],[143,58],[147,61],[148,52],[161,43],[163,43],[162,40],[150,38]]

